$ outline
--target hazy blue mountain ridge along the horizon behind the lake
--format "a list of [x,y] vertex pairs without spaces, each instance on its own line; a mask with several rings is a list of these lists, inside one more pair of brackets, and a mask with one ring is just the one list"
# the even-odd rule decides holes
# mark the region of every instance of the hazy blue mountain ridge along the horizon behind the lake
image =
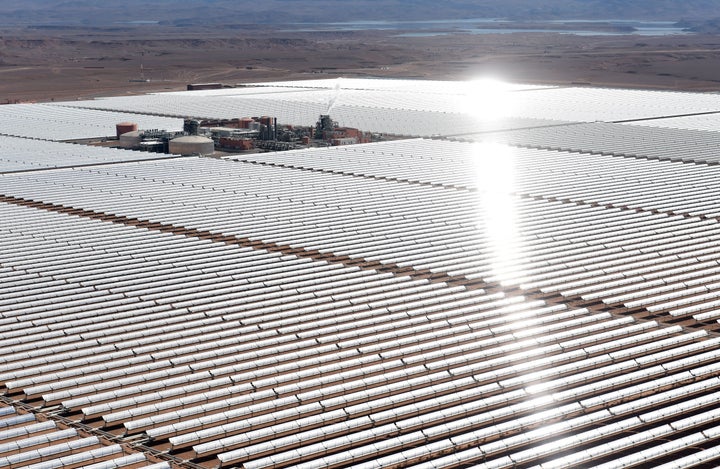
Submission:
[[[0,3],[5,26],[98,26],[138,21],[164,25],[288,24],[358,20],[643,19],[720,17],[718,0],[24,0]],[[0,26],[2,28],[2,26]]]

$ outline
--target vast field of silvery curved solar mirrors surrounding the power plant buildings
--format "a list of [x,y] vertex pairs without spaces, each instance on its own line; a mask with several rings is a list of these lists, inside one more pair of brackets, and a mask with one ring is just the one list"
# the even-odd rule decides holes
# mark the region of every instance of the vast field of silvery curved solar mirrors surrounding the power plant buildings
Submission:
[[[328,109],[407,138],[64,142]],[[716,463],[719,115],[359,79],[0,106],[0,467]]]

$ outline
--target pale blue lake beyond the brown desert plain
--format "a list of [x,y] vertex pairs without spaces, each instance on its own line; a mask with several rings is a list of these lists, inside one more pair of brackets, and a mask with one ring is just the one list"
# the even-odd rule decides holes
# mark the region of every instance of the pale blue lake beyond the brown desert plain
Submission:
[[[644,20],[552,20],[547,28],[524,29],[515,21],[497,18],[432,21],[351,21],[346,23],[297,23],[289,31],[398,31],[397,37],[430,37],[450,34],[560,33],[580,36],[669,36],[692,34],[671,21]],[[557,25],[557,27],[553,27]],[[570,28],[568,28],[570,25]],[[587,28],[583,27],[587,25]],[[632,31],[602,30],[603,26],[633,28]]]

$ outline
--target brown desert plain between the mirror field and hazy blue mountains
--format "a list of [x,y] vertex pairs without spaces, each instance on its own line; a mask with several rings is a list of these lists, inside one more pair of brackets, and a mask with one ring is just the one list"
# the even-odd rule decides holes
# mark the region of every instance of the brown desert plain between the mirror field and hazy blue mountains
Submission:
[[720,36],[558,33],[398,37],[265,29],[0,31],[0,103],[346,77],[720,90]]

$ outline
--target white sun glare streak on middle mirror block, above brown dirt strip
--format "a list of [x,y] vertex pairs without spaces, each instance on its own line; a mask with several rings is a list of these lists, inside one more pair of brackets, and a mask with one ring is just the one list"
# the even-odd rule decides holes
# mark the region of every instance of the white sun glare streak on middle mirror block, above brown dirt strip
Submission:
[[522,277],[521,238],[515,191],[515,149],[497,143],[473,145],[478,188],[478,227],[484,234],[493,278],[502,285]]

